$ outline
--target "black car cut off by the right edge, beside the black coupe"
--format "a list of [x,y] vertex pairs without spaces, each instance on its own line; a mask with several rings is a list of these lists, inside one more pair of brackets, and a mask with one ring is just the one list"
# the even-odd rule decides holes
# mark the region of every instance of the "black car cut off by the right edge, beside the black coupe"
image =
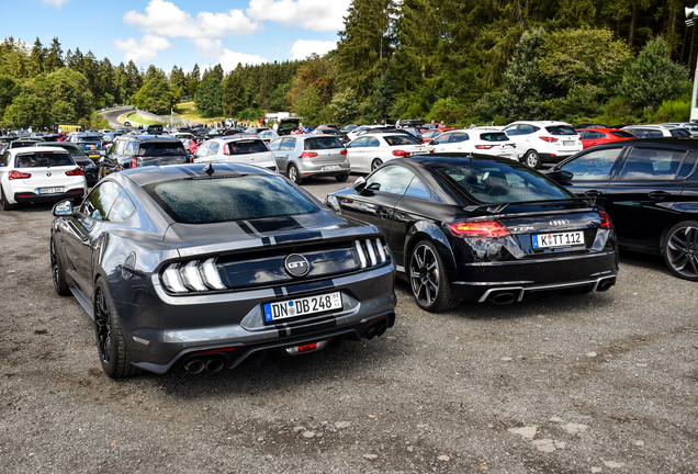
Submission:
[[674,274],[698,281],[698,142],[643,138],[597,145],[548,170],[611,216],[618,244],[664,256]]

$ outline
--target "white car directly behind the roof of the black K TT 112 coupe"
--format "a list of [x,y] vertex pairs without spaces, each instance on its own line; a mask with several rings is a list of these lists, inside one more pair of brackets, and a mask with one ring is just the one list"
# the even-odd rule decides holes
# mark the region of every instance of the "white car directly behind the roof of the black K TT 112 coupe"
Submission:
[[429,153],[475,153],[519,159],[516,144],[496,128],[476,127],[442,133],[429,143]]

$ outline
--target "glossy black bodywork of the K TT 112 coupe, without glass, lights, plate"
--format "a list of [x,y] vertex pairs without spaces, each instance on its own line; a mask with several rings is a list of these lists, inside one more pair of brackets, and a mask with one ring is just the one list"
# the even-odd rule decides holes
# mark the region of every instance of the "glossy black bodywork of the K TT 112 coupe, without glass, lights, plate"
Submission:
[[[484,156],[430,155],[383,165],[381,169],[397,166],[412,171],[429,190],[429,199],[369,190],[364,185],[347,188],[330,196],[337,199],[341,215],[383,229],[401,278],[409,278],[406,269],[412,249],[423,239],[431,241],[446,266],[453,294],[465,301],[479,301],[488,290],[510,285],[527,291],[540,285],[573,286],[575,282],[599,276],[615,282],[618,271],[615,233],[600,228],[598,206],[576,199],[510,203],[504,211],[498,211],[498,206],[477,206],[479,203],[470,201],[435,171],[448,163],[476,167],[489,161],[511,162]],[[568,225],[551,226],[551,221],[558,218],[566,218]],[[463,238],[446,227],[447,223],[470,219],[497,219],[510,235],[498,239]],[[583,249],[532,248],[532,234],[567,229],[584,232]]]

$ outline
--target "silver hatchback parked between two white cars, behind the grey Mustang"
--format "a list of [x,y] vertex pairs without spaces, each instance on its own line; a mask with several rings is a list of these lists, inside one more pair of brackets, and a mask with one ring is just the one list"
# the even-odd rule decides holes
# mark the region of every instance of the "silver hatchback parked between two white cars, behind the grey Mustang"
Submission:
[[347,181],[351,168],[347,149],[334,135],[292,135],[269,144],[279,172],[296,184],[305,178],[329,176]]

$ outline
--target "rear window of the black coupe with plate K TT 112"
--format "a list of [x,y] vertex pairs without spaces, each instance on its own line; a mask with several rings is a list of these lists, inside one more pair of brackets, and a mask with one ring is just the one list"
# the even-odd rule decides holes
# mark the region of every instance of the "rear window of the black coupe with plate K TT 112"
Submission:
[[438,172],[475,202],[510,203],[574,198],[541,173],[526,166],[491,162],[447,166]]

